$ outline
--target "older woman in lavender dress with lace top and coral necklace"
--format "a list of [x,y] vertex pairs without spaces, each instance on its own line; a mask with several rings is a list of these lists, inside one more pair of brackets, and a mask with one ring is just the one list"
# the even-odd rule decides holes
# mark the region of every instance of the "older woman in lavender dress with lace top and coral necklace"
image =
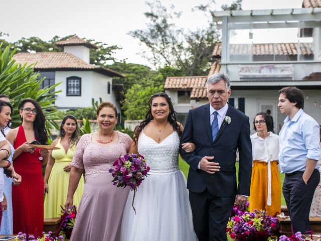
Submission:
[[117,110],[110,102],[97,109],[99,131],[79,140],[71,162],[65,208],[70,210],[73,195],[83,172],[85,187],[79,204],[71,241],[119,240],[123,209],[129,188],[116,188],[108,170],[113,161],[128,153],[131,138],[113,131]]

